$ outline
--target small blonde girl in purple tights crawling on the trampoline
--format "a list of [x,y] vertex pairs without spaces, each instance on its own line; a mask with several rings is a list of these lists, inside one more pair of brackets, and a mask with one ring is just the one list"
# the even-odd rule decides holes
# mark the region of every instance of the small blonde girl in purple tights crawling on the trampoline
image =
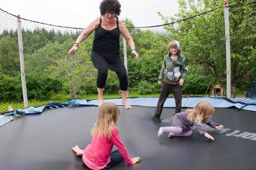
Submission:
[[196,104],[195,108],[174,115],[172,126],[160,127],[158,137],[161,136],[163,132],[169,132],[169,138],[172,136],[191,136],[193,132],[190,127],[195,125],[200,134],[204,134],[206,138],[214,141],[214,138],[205,131],[204,126],[202,125],[207,124],[214,129],[222,129],[224,127],[223,125],[218,125],[210,120],[214,111],[214,107],[210,103],[205,101],[200,102]]

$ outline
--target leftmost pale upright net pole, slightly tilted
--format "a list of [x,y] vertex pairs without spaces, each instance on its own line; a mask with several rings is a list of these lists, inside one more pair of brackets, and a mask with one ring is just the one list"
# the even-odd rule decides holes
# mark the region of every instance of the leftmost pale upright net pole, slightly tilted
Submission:
[[20,76],[21,76],[22,94],[23,94],[24,108],[28,108],[28,96],[27,96],[24,55],[23,55],[23,43],[22,43],[22,28],[21,28],[20,15],[17,15],[17,17],[18,17],[17,32],[18,32],[19,55],[20,55]]

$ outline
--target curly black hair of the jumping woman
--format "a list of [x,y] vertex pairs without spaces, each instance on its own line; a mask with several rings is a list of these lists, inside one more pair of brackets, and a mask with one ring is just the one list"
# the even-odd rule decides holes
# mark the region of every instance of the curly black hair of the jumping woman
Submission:
[[106,11],[115,11],[118,16],[121,12],[121,4],[118,0],[103,0],[100,3],[100,15],[104,15]]

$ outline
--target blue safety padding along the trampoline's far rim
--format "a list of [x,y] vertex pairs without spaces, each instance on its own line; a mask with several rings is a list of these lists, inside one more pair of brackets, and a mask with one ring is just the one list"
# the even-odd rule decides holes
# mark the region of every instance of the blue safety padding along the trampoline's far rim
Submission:
[[[127,98],[128,103],[131,106],[146,106],[146,107],[156,107],[157,101],[159,97],[138,97],[138,98]],[[252,103],[255,103],[255,99],[252,99]],[[220,97],[182,97],[182,108],[194,108],[197,103],[202,101],[207,101],[214,106],[214,108],[230,108],[232,106],[248,110],[248,111],[256,111],[256,105],[253,104],[244,104],[239,99],[223,99]],[[104,102],[112,102],[116,105],[124,105],[122,104],[122,99],[104,99]],[[65,106],[98,106],[97,100],[86,101],[86,100],[72,100],[66,103],[52,103],[49,102],[49,105],[40,106],[37,108],[30,107],[24,110],[15,110],[11,113],[6,113],[4,116],[15,115],[17,113],[21,115],[26,114],[34,114],[34,113],[42,113],[45,109],[51,108],[63,108]],[[175,100],[173,97],[168,97],[164,103],[164,107],[166,108],[175,108]]]

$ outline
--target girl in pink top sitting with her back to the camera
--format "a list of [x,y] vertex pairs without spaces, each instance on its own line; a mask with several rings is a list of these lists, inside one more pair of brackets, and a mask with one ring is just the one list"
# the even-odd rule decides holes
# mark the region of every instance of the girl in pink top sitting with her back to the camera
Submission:
[[[100,106],[99,117],[92,128],[92,143],[81,150],[77,145],[72,150],[83,156],[83,162],[90,169],[108,169],[122,160],[127,165],[140,162],[140,157],[130,158],[122,143],[116,127],[120,110],[114,103],[103,103]],[[113,145],[118,150],[111,152]]]

